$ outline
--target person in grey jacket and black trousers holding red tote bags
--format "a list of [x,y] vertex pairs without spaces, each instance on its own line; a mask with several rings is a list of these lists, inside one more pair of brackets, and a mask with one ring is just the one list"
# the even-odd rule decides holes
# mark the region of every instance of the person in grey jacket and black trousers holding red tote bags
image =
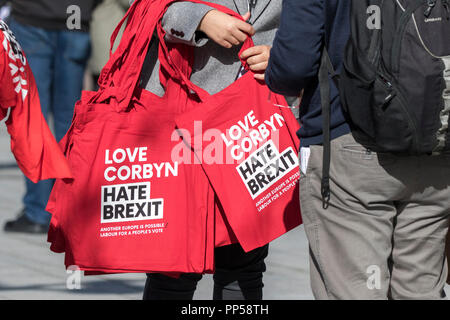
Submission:
[[[131,1],[132,2],[132,1]],[[215,94],[242,74],[239,58],[262,80],[270,55],[270,45],[279,25],[281,3],[274,0],[213,0],[241,14],[247,22],[209,7],[207,4],[178,2],[172,4],[162,20],[165,41],[194,46],[191,81]],[[242,52],[247,36],[255,46]],[[154,39],[142,70],[142,85],[159,96],[164,95],[157,61],[158,39]],[[215,249],[214,299],[262,299],[264,259],[268,245],[244,252],[239,244]],[[192,299],[200,274],[182,274],[172,278],[148,274],[144,299]]]

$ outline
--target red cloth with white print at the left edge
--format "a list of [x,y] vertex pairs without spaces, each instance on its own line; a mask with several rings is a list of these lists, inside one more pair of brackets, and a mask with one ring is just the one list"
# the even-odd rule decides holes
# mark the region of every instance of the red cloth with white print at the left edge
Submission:
[[41,111],[38,90],[28,61],[14,35],[0,20],[0,120],[22,172],[33,182],[71,178],[68,163]]

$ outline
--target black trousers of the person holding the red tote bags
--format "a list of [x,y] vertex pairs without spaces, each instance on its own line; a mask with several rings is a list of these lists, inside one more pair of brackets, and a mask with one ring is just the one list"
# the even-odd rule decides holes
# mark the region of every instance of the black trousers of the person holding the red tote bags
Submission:
[[[216,248],[214,300],[261,300],[264,259],[269,245],[245,252],[239,244]],[[179,278],[149,273],[144,300],[192,300],[201,274],[185,273]]]

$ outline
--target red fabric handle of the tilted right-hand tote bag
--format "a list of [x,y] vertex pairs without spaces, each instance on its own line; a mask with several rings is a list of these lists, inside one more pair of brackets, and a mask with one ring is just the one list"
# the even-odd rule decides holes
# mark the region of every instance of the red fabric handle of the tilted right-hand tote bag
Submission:
[[[202,0],[187,0],[187,1],[207,5],[216,10],[222,11],[223,13],[229,14],[232,17],[235,17],[237,19],[244,21],[244,19],[242,18],[242,16],[240,14],[236,13],[235,11],[233,11],[225,6],[222,6],[222,5],[219,5],[216,3],[202,1]],[[177,63],[177,61],[179,62],[181,59],[179,59],[178,57],[174,57],[174,55],[169,50],[167,44],[165,43],[164,38],[165,38],[166,32],[164,31],[164,29],[162,27],[161,19],[158,20],[157,32],[158,32],[158,37],[160,39],[160,50],[163,51],[162,54],[160,54],[161,66],[168,72],[168,74],[172,78],[177,79],[178,81],[181,81],[181,83],[183,83],[191,91],[191,93],[195,93],[199,97],[200,100],[205,101],[207,99],[207,97],[210,96],[210,94],[208,92],[206,92],[204,89],[202,89],[199,86],[192,83],[192,81],[189,79],[188,75],[181,70],[180,66]],[[254,46],[253,40],[250,36],[248,36],[247,39],[245,40],[244,44],[242,45],[241,50],[239,51],[239,59],[241,60],[241,63],[246,70],[250,70],[250,69],[248,67],[247,62],[240,58],[240,55],[242,54],[242,52],[244,52],[245,50],[247,50],[248,48],[251,48],[253,46]]]

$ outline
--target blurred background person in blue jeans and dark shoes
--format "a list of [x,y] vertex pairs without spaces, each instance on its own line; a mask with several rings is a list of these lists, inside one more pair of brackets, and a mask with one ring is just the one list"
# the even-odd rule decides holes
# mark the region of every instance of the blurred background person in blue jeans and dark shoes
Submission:
[[[9,26],[27,55],[36,78],[42,113],[53,115],[57,141],[69,129],[80,98],[90,55],[89,22],[99,0],[14,0]],[[37,184],[25,178],[24,207],[8,221],[7,232],[46,233],[45,207],[53,180]]]

